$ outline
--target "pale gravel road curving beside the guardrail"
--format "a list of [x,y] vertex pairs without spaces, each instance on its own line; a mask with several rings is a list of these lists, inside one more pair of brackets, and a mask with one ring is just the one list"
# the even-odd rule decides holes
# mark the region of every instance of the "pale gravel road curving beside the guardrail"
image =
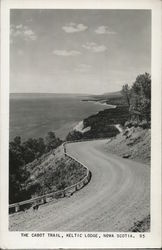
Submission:
[[[92,172],[70,198],[23,215],[11,230],[125,232],[150,213],[150,167],[108,154],[106,140],[70,143],[67,153]],[[24,213],[25,214],[25,213]],[[25,219],[25,216],[28,220]]]

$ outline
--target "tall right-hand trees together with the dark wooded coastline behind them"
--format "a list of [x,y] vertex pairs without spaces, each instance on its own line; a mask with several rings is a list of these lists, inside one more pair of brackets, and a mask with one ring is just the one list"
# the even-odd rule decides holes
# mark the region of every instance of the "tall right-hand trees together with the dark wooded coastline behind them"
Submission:
[[115,124],[149,128],[151,120],[151,76],[148,73],[138,75],[132,87],[125,84],[119,92],[91,96],[89,100],[84,101],[106,102],[116,105],[116,108],[105,109],[84,119],[84,128],[91,127],[91,129],[85,133],[71,131],[67,135],[67,140],[113,137],[119,133],[114,126]]

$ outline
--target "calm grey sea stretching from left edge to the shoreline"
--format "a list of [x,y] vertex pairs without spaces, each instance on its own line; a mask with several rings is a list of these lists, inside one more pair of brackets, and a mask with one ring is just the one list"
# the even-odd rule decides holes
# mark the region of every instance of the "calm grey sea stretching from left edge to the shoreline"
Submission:
[[[105,107],[83,102],[85,96],[59,94],[12,94],[10,97],[10,140],[21,136],[44,137],[54,131],[64,139],[84,118]],[[107,107],[108,108],[108,107]]]

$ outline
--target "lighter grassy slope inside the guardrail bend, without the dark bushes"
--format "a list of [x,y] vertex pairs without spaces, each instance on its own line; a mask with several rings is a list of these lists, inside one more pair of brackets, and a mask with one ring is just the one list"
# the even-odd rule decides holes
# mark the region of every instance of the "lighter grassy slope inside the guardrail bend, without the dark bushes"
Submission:
[[86,176],[86,169],[65,157],[62,146],[27,165],[25,186],[35,196],[62,190]]

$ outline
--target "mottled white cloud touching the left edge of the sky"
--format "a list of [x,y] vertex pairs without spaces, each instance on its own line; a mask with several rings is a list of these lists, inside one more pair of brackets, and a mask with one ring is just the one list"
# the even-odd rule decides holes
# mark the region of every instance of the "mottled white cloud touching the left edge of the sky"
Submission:
[[10,34],[12,43],[15,40],[15,38],[19,38],[25,41],[37,40],[37,35],[35,34],[35,32],[28,26],[23,26],[22,24],[11,25]]

